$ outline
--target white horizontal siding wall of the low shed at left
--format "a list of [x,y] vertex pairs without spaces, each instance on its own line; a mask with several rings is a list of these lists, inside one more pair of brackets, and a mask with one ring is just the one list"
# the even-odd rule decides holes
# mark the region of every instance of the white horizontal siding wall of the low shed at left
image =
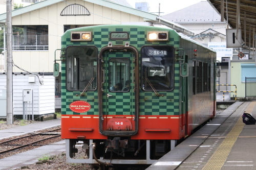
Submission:
[[[39,76],[42,78],[42,76]],[[28,82],[29,75],[13,75],[13,114],[23,115],[26,111],[23,103],[23,90],[33,90],[32,102],[27,103],[27,113],[34,115],[50,114],[55,112],[55,78],[53,76],[44,76],[44,84],[40,85],[39,80],[35,77],[35,83]],[[6,89],[6,75],[0,75],[0,89]]]

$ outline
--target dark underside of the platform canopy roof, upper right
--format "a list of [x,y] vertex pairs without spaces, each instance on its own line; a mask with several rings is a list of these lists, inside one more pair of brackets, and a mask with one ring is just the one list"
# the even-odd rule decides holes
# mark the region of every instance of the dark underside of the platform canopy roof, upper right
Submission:
[[[228,25],[237,28],[237,1],[238,0],[207,0],[212,7],[219,13],[224,15]],[[223,4],[221,2],[223,1]],[[256,32],[256,1],[239,0],[240,1],[240,16],[242,39],[245,40],[246,46],[249,46],[249,38],[251,38],[250,47],[252,47],[253,28]],[[227,2],[227,5],[226,5]],[[223,9],[221,8],[224,7]],[[227,7],[227,8],[226,8]],[[226,10],[227,9],[227,10]],[[246,23],[246,24],[245,24]],[[246,31],[245,31],[246,30]],[[250,31],[251,30],[251,31]],[[245,34],[246,33],[246,34]],[[244,47],[244,46],[243,46]]]

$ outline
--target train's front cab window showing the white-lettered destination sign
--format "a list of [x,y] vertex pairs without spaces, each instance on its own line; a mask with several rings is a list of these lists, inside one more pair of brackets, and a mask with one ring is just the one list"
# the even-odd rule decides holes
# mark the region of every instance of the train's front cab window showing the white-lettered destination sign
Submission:
[[141,48],[141,88],[145,91],[170,91],[174,88],[174,47]]

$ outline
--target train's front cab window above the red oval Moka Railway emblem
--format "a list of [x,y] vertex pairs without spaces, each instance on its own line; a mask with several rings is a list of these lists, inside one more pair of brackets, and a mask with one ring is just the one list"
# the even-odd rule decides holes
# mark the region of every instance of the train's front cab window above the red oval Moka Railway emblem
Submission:
[[70,91],[94,91],[97,88],[97,55],[95,46],[68,46],[66,79]]

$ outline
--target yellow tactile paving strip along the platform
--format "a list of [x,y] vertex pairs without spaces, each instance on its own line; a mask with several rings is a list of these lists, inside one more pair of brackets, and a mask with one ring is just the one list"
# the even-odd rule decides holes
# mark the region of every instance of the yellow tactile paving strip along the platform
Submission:
[[[250,105],[246,108],[245,112],[251,113],[255,105],[256,105],[256,102],[251,102]],[[210,157],[210,159],[204,165],[204,167],[202,168],[203,170],[221,169],[234,143],[237,141],[240,133],[242,132],[243,128],[244,128],[244,123],[243,123],[243,118],[241,116],[238,119],[238,122],[236,123],[236,125],[234,125],[233,129],[227,134],[227,137],[224,139],[224,141],[220,144],[218,149],[215,151],[215,153]]]

